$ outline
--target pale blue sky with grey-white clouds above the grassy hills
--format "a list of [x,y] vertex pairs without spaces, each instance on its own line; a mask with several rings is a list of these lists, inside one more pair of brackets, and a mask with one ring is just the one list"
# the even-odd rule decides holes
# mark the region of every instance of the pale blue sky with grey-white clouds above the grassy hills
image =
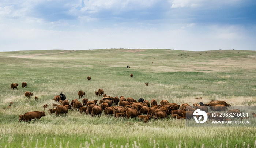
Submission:
[[1,0],[0,51],[256,50],[255,0]]

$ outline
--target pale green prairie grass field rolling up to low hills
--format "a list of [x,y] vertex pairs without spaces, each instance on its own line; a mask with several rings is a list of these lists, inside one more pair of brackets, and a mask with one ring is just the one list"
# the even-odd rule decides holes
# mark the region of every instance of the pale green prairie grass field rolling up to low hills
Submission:
[[[44,111],[45,104],[52,108],[60,92],[69,102],[79,99],[79,90],[83,98],[100,100],[94,96],[99,88],[110,96],[158,103],[225,100],[256,106],[255,51],[34,50],[0,52],[0,63],[0,147],[256,147],[255,127],[186,127],[170,118],[144,124],[70,110],[67,116],[46,111],[39,121],[18,123],[20,114]],[[10,90],[11,83],[19,83],[18,90]],[[38,101],[25,98],[26,91]]]

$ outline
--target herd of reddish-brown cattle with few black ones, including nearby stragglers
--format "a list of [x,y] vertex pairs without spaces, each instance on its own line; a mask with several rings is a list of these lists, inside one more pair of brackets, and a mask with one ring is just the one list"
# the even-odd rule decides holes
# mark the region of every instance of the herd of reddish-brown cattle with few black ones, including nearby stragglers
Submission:
[[[87,78],[88,80],[91,77]],[[147,84],[147,83],[146,83]],[[11,88],[17,88],[18,83],[12,83]],[[22,87],[27,86],[26,82],[22,83]],[[82,90],[78,91],[79,99],[85,95],[85,92]],[[212,111],[226,111],[228,110],[230,104],[226,103],[225,101],[211,101],[207,104],[203,102],[195,103],[193,106],[190,106],[188,103],[184,103],[178,105],[177,103],[169,103],[167,100],[161,100],[160,105],[157,103],[156,100],[144,100],[140,98],[138,102],[129,97],[125,98],[120,96],[120,98],[107,96],[104,94],[104,90],[98,89],[95,91],[95,96],[102,96],[103,98],[99,100],[99,104],[97,104],[98,100],[89,101],[88,99],[82,99],[82,103],[78,101],[78,99],[72,100],[70,103],[66,100],[65,95],[61,92],[60,95],[55,96],[53,100],[56,101],[56,104],[53,104],[53,109],[49,109],[50,114],[55,113],[55,115],[60,114],[67,114],[69,109],[80,110],[80,114],[83,112],[87,115],[96,116],[101,115],[104,111],[105,115],[113,115],[115,118],[119,117],[126,117],[127,119],[130,117],[136,118],[138,117],[139,120],[144,120],[144,122],[148,122],[151,118],[161,119],[167,118],[170,115],[170,118],[175,119],[190,119],[193,118],[193,112],[197,109],[203,110],[207,113],[209,119],[216,119],[216,120],[226,120],[229,121],[231,119],[220,117],[217,113],[217,116],[212,116],[212,113],[208,113],[210,109]],[[33,96],[31,92],[25,92],[26,97]],[[38,98],[35,97],[35,100]],[[202,99],[196,98],[196,99]],[[114,106],[113,106],[114,103]],[[150,106],[151,104],[151,106]],[[117,106],[118,105],[118,106]],[[9,105],[10,106],[10,105]],[[44,110],[48,107],[48,104],[42,106]],[[231,109],[227,111],[228,113],[241,113],[239,109]],[[143,115],[142,115],[143,114]],[[256,117],[255,113],[252,113],[253,117]],[[45,116],[44,111],[32,111],[25,113],[19,116],[19,121],[31,121],[33,119],[40,119],[42,116]],[[197,115],[197,118],[200,116]],[[240,118],[241,120],[244,117]]]

